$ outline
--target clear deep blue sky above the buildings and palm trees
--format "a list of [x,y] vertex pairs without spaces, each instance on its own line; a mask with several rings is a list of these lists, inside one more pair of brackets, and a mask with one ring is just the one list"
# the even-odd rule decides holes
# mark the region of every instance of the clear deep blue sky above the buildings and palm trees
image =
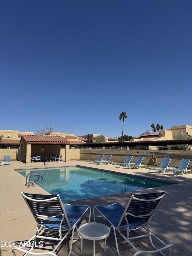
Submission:
[[192,125],[191,0],[2,0],[1,130]]

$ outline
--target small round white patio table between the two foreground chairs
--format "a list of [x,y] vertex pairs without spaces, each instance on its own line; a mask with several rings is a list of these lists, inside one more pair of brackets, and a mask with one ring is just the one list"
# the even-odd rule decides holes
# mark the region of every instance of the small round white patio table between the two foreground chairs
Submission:
[[81,236],[81,251],[82,238],[93,240],[93,256],[95,256],[95,240],[105,239],[104,251],[106,248],[107,237],[110,235],[110,228],[107,225],[98,222],[85,223],[79,227],[79,234]]

